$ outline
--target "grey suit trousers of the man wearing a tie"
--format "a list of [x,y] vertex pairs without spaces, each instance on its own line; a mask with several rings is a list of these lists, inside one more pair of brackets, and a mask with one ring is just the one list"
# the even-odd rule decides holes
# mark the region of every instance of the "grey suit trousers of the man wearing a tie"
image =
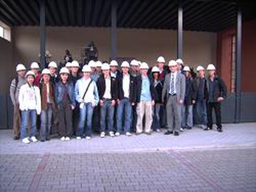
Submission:
[[168,96],[166,104],[167,129],[170,131],[179,131],[181,125],[181,106],[177,95]]

